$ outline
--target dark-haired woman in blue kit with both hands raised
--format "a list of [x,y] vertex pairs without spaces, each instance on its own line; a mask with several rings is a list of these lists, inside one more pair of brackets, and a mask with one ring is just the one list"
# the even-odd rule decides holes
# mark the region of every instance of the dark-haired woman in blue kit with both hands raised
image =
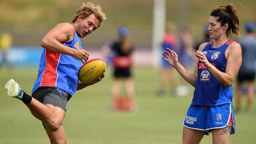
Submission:
[[235,133],[232,84],[241,66],[241,47],[231,41],[240,36],[237,11],[231,4],[211,12],[208,31],[213,42],[199,46],[194,74],[178,62],[178,55],[167,48],[163,59],[195,87],[193,100],[184,120],[183,144],[198,144],[212,132],[213,144],[228,144]]

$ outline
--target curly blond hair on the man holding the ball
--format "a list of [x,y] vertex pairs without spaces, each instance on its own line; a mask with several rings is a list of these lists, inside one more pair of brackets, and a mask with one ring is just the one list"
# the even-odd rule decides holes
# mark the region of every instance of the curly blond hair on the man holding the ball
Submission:
[[107,18],[106,15],[102,12],[100,6],[94,6],[92,3],[88,2],[87,4],[83,3],[83,5],[76,10],[74,17],[71,22],[74,23],[78,19],[78,16],[81,15],[82,18],[87,18],[89,15],[95,15],[95,17],[100,21],[98,27],[100,27],[101,23],[104,22]]

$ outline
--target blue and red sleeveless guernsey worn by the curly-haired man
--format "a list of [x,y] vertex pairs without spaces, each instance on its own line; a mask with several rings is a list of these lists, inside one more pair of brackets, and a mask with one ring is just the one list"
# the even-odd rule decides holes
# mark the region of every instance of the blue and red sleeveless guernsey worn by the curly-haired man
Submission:
[[[63,43],[70,48],[82,48],[78,35],[74,34],[74,39]],[[59,54],[43,50],[38,76],[32,89],[32,94],[39,87],[57,87],[60,91],[65,90],[69,93],[69,98],[76,92],[78,87],[78,71],[82,66],[82,61],[71,55]]]

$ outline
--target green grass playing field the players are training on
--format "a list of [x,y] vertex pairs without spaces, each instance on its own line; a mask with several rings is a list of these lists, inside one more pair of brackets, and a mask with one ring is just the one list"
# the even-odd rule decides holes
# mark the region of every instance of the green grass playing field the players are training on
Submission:
[[[7,96],[4,85],[10,78],[31,94],[37,69],[0,69],[0,144],[48,144],[50,141],[39,120],[20,101]],[[63,125],[68,144],[181,144],[183,120],[193,97],[156,96],[158,71],[135,69],[137,111],[110,111],[112,74],[100,83],[74,94],[68,102]],[[245,97],[243,98],[245,107]],[[236,134],[230,144],[255,144],[256,102],[250,116],[235,114]],[[210,144],[211,135],[201,144]]]

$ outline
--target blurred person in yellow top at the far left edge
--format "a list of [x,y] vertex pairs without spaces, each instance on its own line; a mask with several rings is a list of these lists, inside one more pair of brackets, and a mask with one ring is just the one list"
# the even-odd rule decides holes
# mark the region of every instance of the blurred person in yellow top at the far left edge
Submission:
[[12,42],[13,42],[13,38],[11,36],[11,33],[9,33],[8,31],[4,31],[0,35],[0,50],[2,53],[2,61],[0,59],[1,67],[4,65],[7,65],[7,50],[11,47]]

